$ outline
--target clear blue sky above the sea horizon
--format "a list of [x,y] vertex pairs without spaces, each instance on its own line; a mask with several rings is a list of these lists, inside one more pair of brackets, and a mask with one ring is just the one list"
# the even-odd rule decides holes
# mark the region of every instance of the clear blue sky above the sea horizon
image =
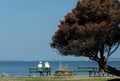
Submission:
[[[78,0],[0,0],[0,60],[87,60],[61,56],[49,43]],[[120,57],[118,49],[112,58]]]

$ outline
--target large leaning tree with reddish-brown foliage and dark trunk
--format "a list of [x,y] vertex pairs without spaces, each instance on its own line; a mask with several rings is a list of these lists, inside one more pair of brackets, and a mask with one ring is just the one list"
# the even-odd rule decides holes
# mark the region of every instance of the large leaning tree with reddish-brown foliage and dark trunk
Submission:
[[58,27],[51,47],[62,55],[89,57],[104,71],[120,76],[120,71],[107,65],[120,45],[118,0],[79,0]]

